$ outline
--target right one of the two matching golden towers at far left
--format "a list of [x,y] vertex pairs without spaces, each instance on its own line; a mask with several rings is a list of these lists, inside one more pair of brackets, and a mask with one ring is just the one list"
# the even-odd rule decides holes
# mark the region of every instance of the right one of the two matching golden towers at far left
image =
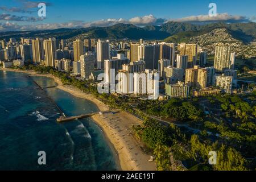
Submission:
[[54,67],[56,56],[56,39],[49,38],[44,40],[44,53],[46,57],[46,66]]

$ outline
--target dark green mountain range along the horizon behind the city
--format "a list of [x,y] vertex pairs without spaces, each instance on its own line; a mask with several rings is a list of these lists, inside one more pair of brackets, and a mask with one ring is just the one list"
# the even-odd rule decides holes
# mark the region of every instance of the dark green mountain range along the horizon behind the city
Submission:
[[20,37],[55,37],[57,39],[75,38],[101,38],[101,39],[157,39],[166,42],[179,43],[192,38],[207,34],[216,28],[225,28],[233,38],[247,44],[256,41],[256,23],[208,23],[192,24],[180,22],[167,22],[161,26],[137,27],[133,24],[115,24],[109,27],[88,27],[88,28],[60,28],[56,30],[35,30],[35,31],[9,31],[0,32],[0,39]]

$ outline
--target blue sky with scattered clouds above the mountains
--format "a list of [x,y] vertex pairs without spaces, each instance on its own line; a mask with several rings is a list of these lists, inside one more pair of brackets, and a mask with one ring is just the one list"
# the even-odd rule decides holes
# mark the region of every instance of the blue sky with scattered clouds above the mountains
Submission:
[[[38,16],[38,4],[46,4],[46,16]],[[112,26],[132,23],[160,25],[168,21],[188,23],[256,22],[255,0],[0,0],[0,31],[46,30]],[[209,3],[217,14],[210,17]]]

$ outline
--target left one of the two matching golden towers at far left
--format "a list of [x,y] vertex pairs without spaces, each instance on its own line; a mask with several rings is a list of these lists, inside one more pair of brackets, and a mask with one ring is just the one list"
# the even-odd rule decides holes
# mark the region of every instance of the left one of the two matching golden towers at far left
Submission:
[[36,38],[32,40],[32,54],[34,64],[40,64],[44,60],[43,39]]

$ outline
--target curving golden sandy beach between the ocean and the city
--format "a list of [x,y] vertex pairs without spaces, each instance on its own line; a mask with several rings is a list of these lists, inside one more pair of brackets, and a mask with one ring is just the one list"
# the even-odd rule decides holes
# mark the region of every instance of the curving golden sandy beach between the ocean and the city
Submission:
[[[0,69],[3,71],[15,71],[29,73],[31,76],[46,76],[53,78],[57,82],[57,88],[64,90],[72,94],[73,96],[85,98],[94,102],[101,111],[109,110],[108,105],[97,100],[90,94],[82,92],[80,89],[71,85],[63,85],[59,78],[50,74],[38,74],[33,71],[22,71],[15,69]],[[115,150],[118,153],[118,159],[120,167],[124,171],[154,171],[156,169],[155,162],[148,162],[150,155],[146,155],[141,150],[140,144],[134,138],[134,134],[131,130],[133,125],[139,125],[142,123],[141,119],[138,119],[134,115],[131,115],[124,111],[115,110],[113,112],[97,114],[92,117],[101,129],[104,131],[105,136],[109,142],[113,144]]]

